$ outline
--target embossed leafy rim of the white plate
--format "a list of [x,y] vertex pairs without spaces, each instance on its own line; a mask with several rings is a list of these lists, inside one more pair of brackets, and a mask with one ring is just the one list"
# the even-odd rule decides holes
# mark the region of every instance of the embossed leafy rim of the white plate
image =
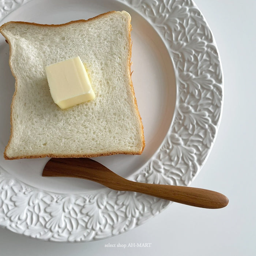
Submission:
[[[30,0],[0,3],[0,20]],[[223,76],[211,30],[191,0],[118,0],[158,32],[173,60],[177,101],[173,124],[139,182],[189,185],[217,135]],[[89,196],[61,195],[30,187],[0,167],[0,226],[31,238],[58,242],[100,240],[121,234],[159,214],[169,201],[104,189]]]

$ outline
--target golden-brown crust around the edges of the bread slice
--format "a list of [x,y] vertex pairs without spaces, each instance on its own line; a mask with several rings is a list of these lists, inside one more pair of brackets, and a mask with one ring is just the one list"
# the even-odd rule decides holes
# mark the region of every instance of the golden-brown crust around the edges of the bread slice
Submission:
[[14,94],[12,96],[12,102],[11,102],[11,116],[10,116],[10,123],[11,123],[11,134],[10,134],[10,138],[9,138],[9,141],[7,143],[7,146],[5,147],[5,150],[4,150],[4,159],[6,160],[13,160],[13,159],[22,159],[22,158],[44,158],[44,157],[54,157],[54,158],[70,158],[70,157],[74,157],[74,158],[79,158],[79,157],[100,157],[100,156],[108,156],[108,155],[116,155],[116,154],[130,154],[130,155],[141,155],[143,150],[144,150],[144,147],[145,147],[145,139],[144,139],[144,129],[143,129],[143,123],[142,123],[142,118],[140,116],[140,113],[139,113],[139,109],[138,109],[138,105],[137,105],[137,100],[136,100],[136,97],[135,97],[135,92],[134,92],[134,88],[133,88],[133,84],[132,84],[132,79],[131,79],[131,75],[132,75],[132,72],[131,72],[131,55],[132,55],[132,41],[131,41],[131,30],[132,30],[132,26],[131,26],[131,20],[129,20],[129,44],[130,44],[130,48],[129,48],[129,55],[128,55],[128,66],[129,66],[129,72],[130,72],[130,88],[131,88],[131,92],[133,94],[133,98],[134,98],[134,104],[135,104],[135,109],[136,109],[136,112],[137,112],[137,115],[139,117],[139,120],[140,120],[140,125],[141,125],[141,134],[142,134],[142,149],[138,152],[134,151],[134,152],[127,152],[127,151],[117,151],[117,152],[111,152],[111,153],[102,153],[102,154],[76,154],[76,155],[72,155],[72,154],[66,154],[66,155],[59,155],[59,154],[43,154],[43,155],[28,155],[28,156],[25,156],[25,155],[21,155],[21,156],[18,156],[18,157],[8,157],[7,155],[7,149],[8,147],[10,146],[10,143],[11,143],[11,140],[12,140],[12,136],[13,136],[13,126],[12,126],[12,121],[13,121],[13,105],[14,105],[14,101],[15,101],[15,97],[16,97],[16,91],[17,91],[17,79],[16,79],[16,76],[14,75],[14,71],[12,69],[12,65],[11,65],[11,55],[12,55],[12,45],[10,43],[10,40],[9,38],[7,37],[7,35],[3,32],[3,28],[7,25],[7,24],[10,24],[10,23],[22,23],[22,24],[29,24],[29,25],[34,25],[34,26],[44,26],[44,27],[60,27],[60,26],[66,26],[66,25],[69,25],[69,24],[72,24],[72,23],[79,23],[79,22],[87,22],[89,20],[94,20],[94,19],[98,19],[98,18],[101,18],[102,16],[106,16],[106,15],[109,15],[113,12],[116,12],[116,11],[109,11],[109,12],[105,12],[103,14],[100,14],[100,15],[97,15],[93,18],[90,18],[90,19],[87,19],[87,20],[73,20],[73,21],[70,21],[70,22],[67,22],[67,23],[63,23],[63,24],[38,24],[38,23],[34,23],[34,22],[23,22],[23,21],[10,21],[10,22],[6,22],[4,23],[3,25],[0,26],[0,33],[4,36],[4,38],[6,39],[7,43],[9,44],[9,66],[10,66],[10,69],[11,69],[11,72],[12,72],[12,75],[14,76],[15,78],[15,91],[14,91]]

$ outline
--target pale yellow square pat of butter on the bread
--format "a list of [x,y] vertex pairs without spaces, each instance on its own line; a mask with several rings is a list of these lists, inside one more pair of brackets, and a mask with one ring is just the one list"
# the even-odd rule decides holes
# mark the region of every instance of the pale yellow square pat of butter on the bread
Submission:
[[80,57],[45,67],[53,101],[66,109],[95,98],[86,69]]

